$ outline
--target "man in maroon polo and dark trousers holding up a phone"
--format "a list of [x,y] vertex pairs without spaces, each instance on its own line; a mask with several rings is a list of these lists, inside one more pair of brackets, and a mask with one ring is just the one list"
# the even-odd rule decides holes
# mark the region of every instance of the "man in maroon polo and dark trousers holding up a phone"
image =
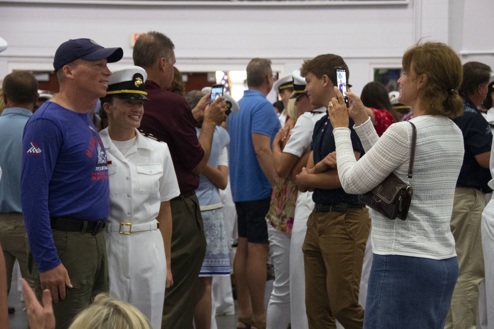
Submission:
[[[196,298],[194,285],[206,253],[203,220],[195,189],[206,167],[216,125],[226,103],[220,97],[211,106],[201,99],[191,111],[182,96],[166,91],[173,81],[174,45],[159,32],[139,37],[134,45],[134,65],[148,73],[145,82],[149,102],[144,104],[140,129],[168,144],[175,167],[180,196],[170,202],[173,222],[171,273],[174,284],[165,291],[162,328],[192,328]],[[204,117],[199,137],[194,123]]]

